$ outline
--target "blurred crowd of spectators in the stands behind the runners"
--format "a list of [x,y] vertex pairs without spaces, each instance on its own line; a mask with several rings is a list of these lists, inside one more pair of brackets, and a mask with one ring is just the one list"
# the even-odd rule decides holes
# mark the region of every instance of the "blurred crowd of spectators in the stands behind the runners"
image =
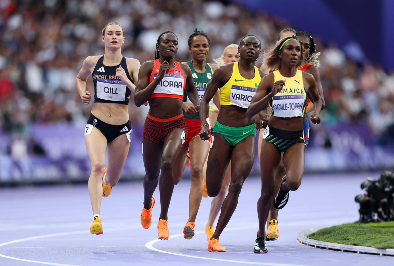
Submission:
[[[191,59],[187,41],[193,30],[206,32],[211,40],[207,61],[212,62],[225,46],[247,34],[258,36],[262,49],[273,47],[278,33],[291,26],[217,1],[0,0],[3,133],[29,139],[33,123],[85,125],[93,101],[82,105],[75,78],[87,56],[104,54],[101,30],[110,21],[119,22],[125,30],[123,55],[141,63],[154,59],[157,37],[167,30],[178,36],[179,61]],[[352,61],[333,43],[316,41],[316,45],[322,53],[323,123],[364,123],[383,145],[394,136],[394,72],[386,73],[368,61]],[[91,78],[87,86],[93,90]],[[136,108],[130,101],[134,125],[143,123],[147,109]]]

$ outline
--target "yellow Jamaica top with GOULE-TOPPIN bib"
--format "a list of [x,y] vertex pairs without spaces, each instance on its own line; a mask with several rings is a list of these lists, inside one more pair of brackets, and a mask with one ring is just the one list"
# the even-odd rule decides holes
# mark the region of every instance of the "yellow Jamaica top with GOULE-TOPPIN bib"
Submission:
[[297,69],[296,75],[291,78],[285,78],[279,70],[274,71],[273,74],[274,82],[278,80],[286,80],[286,82],[282,91],[275,94],[269,102],[271,116],[304,117],[308,97],[302,80],[302,71]]

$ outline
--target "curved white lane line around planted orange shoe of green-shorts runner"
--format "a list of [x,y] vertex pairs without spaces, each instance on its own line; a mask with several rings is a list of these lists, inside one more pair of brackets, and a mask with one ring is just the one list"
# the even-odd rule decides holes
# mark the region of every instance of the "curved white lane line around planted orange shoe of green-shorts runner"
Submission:
[[[253,228],[256,228],[256,226],[255,225],[253,225],[253,226],[246,225],[246,226],[225,228],[223,231],[236,231],[236,230],[253,229]],[[205,233],[205,231],[204,230],[195,231],[195,234],[201,234],[201,233]],[[180,236],[183,236],[183,234],[174,234],[174,235],[170,236],[169,238],[175,238],[175,237],[180,237]],[[159,241],[160,241],[160,239],[151,240],[147,244],[145,244],[145,247],[147,247],[153,251],[158,251],[158,252],[172,254],[172,255],[178,255],[178,256],[182,256],[182,257],[203,259],[203,260],[217,260],[217,261],[225,261],[225,262],[255,264],[255,265],[268,265],[268,266],[306,266],[306,265],[299,265],[299,264],[283,264],[283,263],[269,263],[269,262],[251,262],[251,261],[242,261],[242,260],[226,260],[226,259],[207,258],[207,257],[199,257],[199,256],[186,255],[186,254],[180,254],[180,253],[173,253],[173,252],[164,251],[164,250],[160,250],[160,249],[153,247],[153,244],[156,242],[159,242]]]

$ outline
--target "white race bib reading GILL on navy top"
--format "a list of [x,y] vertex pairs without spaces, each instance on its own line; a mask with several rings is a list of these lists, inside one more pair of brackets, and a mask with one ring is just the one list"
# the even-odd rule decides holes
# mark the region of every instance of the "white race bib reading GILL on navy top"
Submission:
[[126,84],[121,80],[106,80],[98,78],[96,84],[97,98],[103,100],[124,101],[126,99]]

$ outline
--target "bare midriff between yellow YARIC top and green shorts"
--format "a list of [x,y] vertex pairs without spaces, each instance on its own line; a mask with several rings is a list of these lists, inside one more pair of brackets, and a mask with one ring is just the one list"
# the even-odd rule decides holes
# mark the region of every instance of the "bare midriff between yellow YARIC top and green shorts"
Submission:
[[243,127],[255,123],[254,117],[247,117],[247,108],[236,105],[221,105],[217,121],[225,126]]

